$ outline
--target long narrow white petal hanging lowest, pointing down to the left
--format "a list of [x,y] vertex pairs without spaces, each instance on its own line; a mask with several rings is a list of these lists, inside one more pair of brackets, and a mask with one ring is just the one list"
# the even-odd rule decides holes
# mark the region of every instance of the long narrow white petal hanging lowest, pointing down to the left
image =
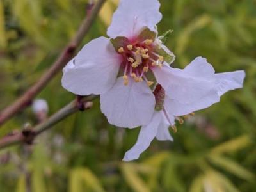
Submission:
[[157,135],[157,129],[161,124],[161,112],[155,112],[151,122],[142,126],[136,144],[125,153],[123,161],[132,161],[138,159],[140,154],[144,152]]

